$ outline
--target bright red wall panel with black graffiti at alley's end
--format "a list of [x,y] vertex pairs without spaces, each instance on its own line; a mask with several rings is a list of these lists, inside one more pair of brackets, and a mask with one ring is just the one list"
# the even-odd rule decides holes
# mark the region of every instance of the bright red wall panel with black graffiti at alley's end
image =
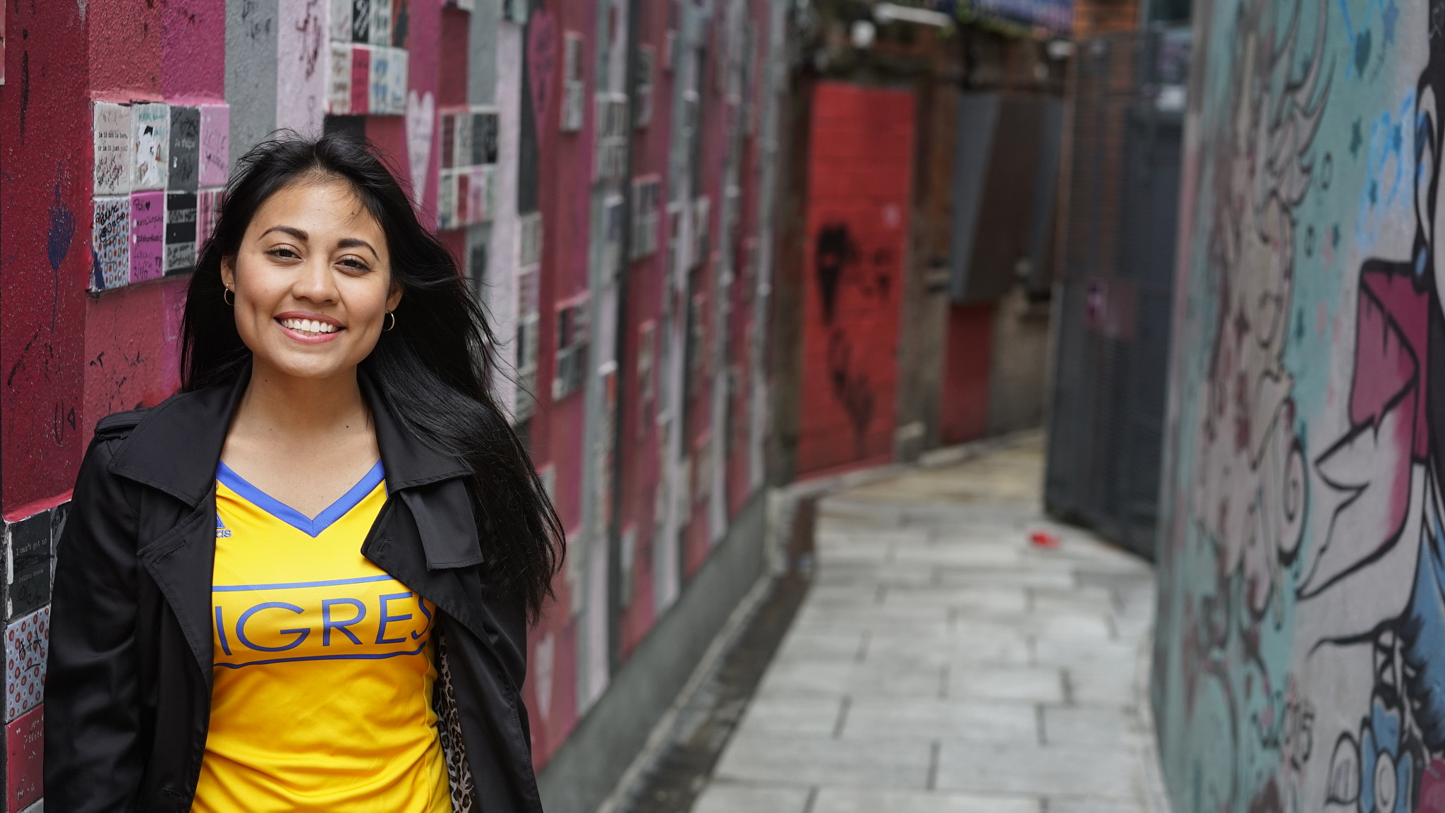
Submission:
[[798,473],[889,460],[913,94],[814,90]]

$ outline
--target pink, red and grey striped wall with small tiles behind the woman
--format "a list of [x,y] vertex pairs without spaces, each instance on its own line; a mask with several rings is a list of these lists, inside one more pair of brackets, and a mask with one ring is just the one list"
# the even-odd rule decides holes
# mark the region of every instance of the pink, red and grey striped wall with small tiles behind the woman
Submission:
[[782,0],[6,3],[6,810],[40,801],[53,541],[95,422],[178,386],[236,159],[364,135],[486,302],[569,537],[523,696],[556,752],[762,488]]

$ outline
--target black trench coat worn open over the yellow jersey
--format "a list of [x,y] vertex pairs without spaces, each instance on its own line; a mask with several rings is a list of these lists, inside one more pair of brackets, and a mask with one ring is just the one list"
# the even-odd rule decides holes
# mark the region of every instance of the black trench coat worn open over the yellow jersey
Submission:
[[[49,813],[186,812],[211,713],[215,467],[249,373],[103,420],[58,544],[45,683]],[[458,813],[540,813],[526,612],[480,571],[468,470],[361,379],[389,496],[361,554],[436,605],[438,729]]]

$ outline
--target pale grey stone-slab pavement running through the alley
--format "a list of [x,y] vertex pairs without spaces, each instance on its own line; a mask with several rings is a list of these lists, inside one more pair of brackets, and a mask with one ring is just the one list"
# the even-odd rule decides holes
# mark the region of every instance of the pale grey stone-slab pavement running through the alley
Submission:
[[812,590],[694,813],[1163,810],[1153,571],[1043,518],[1042,459],[824,501]]

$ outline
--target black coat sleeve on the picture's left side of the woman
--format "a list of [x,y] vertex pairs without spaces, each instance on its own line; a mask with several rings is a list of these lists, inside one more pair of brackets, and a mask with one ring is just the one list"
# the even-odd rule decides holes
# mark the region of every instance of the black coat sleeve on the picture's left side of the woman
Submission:
[[133,810],[140,787],[136,492],[107,472],[120,443],[91,443],[56,545],[45,680],[51,813]]

